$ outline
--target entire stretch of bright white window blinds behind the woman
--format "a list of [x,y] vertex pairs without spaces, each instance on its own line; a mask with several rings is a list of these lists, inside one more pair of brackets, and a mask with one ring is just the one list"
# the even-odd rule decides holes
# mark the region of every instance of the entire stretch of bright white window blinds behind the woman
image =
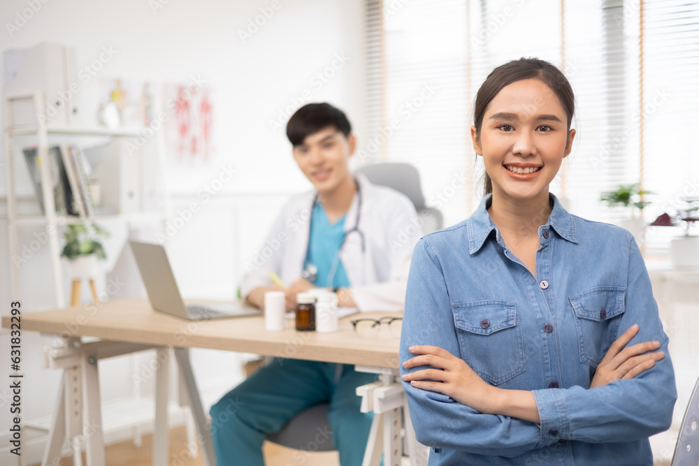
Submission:
[[[495,66],[540,57],[565,71],[577,97],[576,142],[552,192],[576,214],[617,221],[626,212],[600,194],[642,180],[657,193],[650,221],[680,193],[699,194],[699,157],[681,130],[698,118],[697,3],[368,0],[370,135],[360,161],[412,163],[447,225],[468,217],[482,192],[475,92]],[[661,251],[671,230],[651,229],[649,247]]]

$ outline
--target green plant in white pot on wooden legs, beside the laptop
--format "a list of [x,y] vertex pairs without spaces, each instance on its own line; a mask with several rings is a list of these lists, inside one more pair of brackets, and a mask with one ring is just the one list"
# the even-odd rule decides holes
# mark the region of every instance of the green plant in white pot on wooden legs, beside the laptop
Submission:
[[72,224],[64,232],[66,245],[61,256],[68,259],[68,275],[73,282],[71,293],[71,305],[80,302],[80,282],[88,279],[92,287],[92,295],[97,301],[97,293],[94,286],[94,278],[99,273],[99,259],[106,259],[104,246],[99,237],[107,238],[109,233],[100,226],[89,224]]

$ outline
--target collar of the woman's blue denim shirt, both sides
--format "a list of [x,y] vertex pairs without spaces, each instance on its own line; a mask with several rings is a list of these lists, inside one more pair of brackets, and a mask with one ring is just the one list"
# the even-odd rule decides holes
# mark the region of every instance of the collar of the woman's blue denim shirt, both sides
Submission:
[[[492,203],[493,195],[487,194],[481,201],[480,205],[473,215],[466,220],[466,228],[468,231],[468,252],[475,254],[478,252],[483,243],[490,235],[491,231],[497,231],[495,224],[490,219],[488,207]],[[566,241],[577,243],[577,233],[575,231],[575,221],[572,215],[563,208],[561,202],[556,196],[549,193],[549,202],[553,205],[549,221],[539,228],[541,234],[542,228],[551,227],[558,235]],[[499,234],[499,233],[498,233]]]

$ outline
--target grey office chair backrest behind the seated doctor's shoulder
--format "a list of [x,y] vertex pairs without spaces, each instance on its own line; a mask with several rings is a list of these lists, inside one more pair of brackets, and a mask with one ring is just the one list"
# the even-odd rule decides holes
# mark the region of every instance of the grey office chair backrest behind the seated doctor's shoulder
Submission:
[[415,205],[417,215],[422,221],[423,234],[426,235],[442,228],[444,224],[442,212],[425,205],[425,196],[422,195],[420,187],[420,174],[417,168],[410,163],[376,163],[375,165],[363,166],[356,172],[366,176],[373,184],[395,189],[408,196],[412,204]]

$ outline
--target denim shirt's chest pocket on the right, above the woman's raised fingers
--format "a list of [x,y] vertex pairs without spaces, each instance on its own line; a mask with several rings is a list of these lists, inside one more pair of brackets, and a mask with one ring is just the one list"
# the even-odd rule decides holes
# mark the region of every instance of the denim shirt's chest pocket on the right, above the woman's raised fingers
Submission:
[[624,286],[596,286],[568,298],[575,316],[580,362],[597,368],[619,332]]

